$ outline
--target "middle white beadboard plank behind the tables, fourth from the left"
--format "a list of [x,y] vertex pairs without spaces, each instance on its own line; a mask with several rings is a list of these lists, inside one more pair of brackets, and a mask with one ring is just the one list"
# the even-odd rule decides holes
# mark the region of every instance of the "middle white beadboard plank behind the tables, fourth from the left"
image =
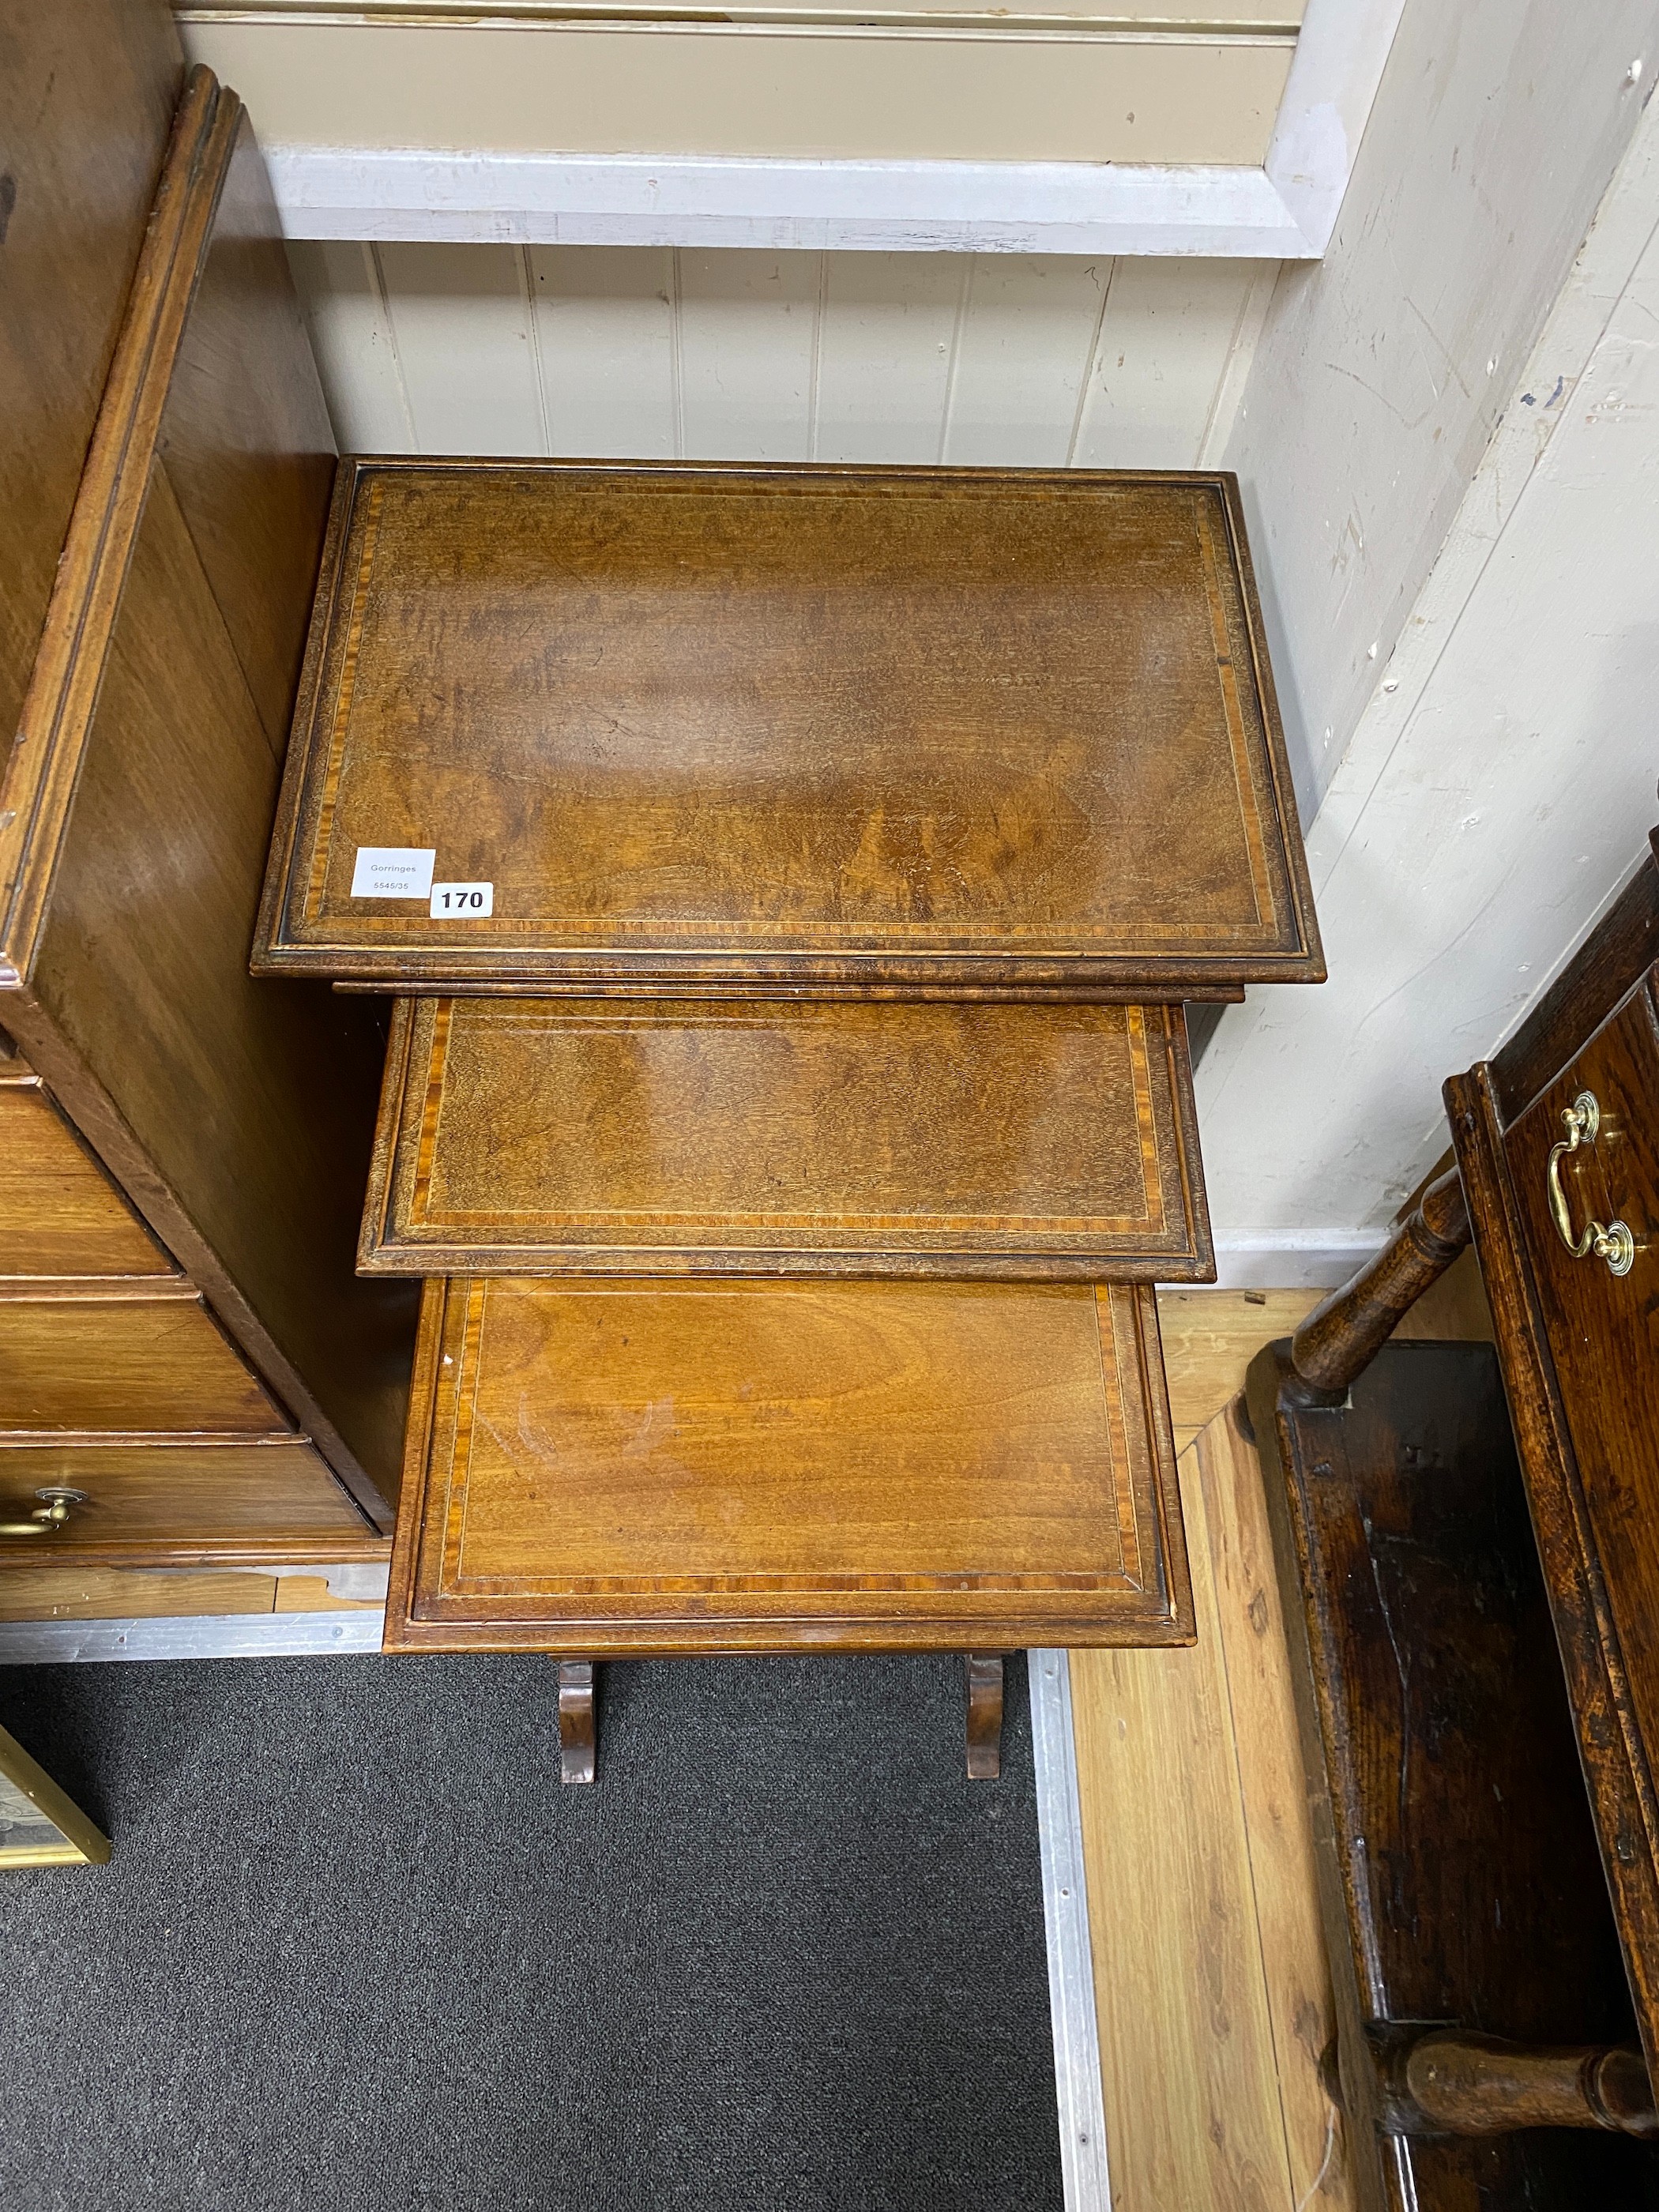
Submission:
[[823,254],[679,252],[688,460],[807,460]]

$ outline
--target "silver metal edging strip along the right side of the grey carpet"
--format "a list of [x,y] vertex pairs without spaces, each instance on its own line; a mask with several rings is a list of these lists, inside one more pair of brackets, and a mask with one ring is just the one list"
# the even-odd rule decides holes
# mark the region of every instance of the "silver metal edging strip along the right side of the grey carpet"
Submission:
[[1055,2033],[1060,2172],[1066,2212],[1110,2212],[1084,1816],[1077,1801],[1077,1739],[1071,1732],[1071,1663],[1062,1650],[1035,1650],[1026,1652],[1026,1672],[1037,1770],[1042,1922],[1048,1933],[1048,2008]]

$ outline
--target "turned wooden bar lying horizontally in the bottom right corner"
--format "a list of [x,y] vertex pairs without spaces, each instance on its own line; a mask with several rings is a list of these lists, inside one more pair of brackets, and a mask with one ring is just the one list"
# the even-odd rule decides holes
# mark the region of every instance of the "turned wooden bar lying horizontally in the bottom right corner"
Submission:
[[1648,2064],[1626,2046],[1506,2044],[1442,2028],[1394,2064],[1394,2135],[1613,2128],[1659,2135]]

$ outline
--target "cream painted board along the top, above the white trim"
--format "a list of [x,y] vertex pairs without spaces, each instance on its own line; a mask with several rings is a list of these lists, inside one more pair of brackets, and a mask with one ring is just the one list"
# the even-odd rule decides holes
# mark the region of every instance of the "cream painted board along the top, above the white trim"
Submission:
[[1088,29],[513,22],[181,9],[270,144],[1259,164],[1296,46]]

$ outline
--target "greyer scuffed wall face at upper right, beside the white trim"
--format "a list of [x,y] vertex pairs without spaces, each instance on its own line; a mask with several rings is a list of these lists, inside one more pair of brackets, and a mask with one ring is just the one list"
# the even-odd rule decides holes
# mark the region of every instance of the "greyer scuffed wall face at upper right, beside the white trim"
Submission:
[[1329,248],[1285,272],[1225,456],[1243,482],[1305,818],[1657,62],[1655,0],[1407,0]]

